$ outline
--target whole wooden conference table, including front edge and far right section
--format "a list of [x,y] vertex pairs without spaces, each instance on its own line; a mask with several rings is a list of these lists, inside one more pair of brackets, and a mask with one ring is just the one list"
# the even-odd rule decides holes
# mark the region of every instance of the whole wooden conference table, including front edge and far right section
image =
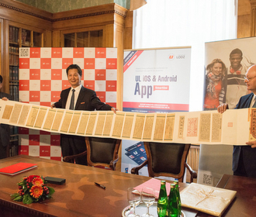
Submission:
[[[119,217],[122,216],[123,209],[129,205],[127,202],[127,188],[136,187],[150,180],[150,177],[25,155],[0,160],[0,168],[19,162],[36,164],[37,167],[13,176],[0,174],[1,216]],[[21,181],[22,177],[32,174],[43,177],[61,177],[65,178],[66,182],[65,184],[47,184],[53,187],[55,192],[53,198],[43,202],[30,205],[23,205],[22,202],[13,202],[10,195],[18,191],[17,183]],[[254,198],[256,197],[254,187],[256,179],[249,179],[247,182],[245,180],[247,178],[229,175],[224,175],[220,180],[217,187],[235,191],[242,190],[240,193],[237,191],[237,197],[223,216],[237,216],[234,213],[237,214],[239,212],[244,213],[244,215],[239,216],[254,215],[253,199],[249,198],[247,194],[254,195]],[[95,182],[106,186],[106,189],[95,185]],[[180,190],[182,191],[186,186],[188,184],[180,183]],[[251,190],[247,189],[249,187]],[[246,188],[246,193],[244,188]],[[246,200],[245,202],[243,201],[244,199]],[[247,203],[250,204],[248,205]],[[212,216],[189,208],[182,208],[182,210],[186,217]]]

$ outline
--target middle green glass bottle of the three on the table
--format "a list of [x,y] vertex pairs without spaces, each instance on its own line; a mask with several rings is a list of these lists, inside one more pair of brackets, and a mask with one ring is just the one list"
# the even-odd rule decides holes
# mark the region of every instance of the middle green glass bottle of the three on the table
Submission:
[[168,217],[178,217],[179,216],[175,184],[171,184],[170,194],[169,194],[169,198],[168,198],[167,216]]

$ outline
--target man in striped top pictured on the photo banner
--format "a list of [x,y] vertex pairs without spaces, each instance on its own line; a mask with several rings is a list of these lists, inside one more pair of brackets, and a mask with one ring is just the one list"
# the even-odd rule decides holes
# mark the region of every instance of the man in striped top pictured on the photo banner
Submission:
[[230,52],[230,67],[227,67],[223,84],[223,102],[226,102],[229,108],[235,108],[240,97],[250,93],[244,83],[244,75],[248,67],[242,63],[242,60],[243,53],[240,49],[236,48]]

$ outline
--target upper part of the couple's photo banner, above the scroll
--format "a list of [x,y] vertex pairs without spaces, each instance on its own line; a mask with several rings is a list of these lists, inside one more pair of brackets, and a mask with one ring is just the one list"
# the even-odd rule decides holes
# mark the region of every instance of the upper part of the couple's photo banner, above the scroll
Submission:
[[247,68],[256,64],[255,45],[255,37],[206,43],[203,110],[216,110],[222,103],[235,108],[249,93],[244,77]]

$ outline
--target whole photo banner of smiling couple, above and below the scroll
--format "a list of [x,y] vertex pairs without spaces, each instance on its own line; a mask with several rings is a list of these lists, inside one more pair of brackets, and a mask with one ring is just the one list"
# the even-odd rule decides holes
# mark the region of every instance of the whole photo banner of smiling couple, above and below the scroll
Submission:
[[[244,77],[247,68],[256,64],[255,45],[255,37],[205,44],[203,110],[216,110],[222,103],[235,108],[249,93]],[[201,144],[198,183],[215,186],[223,174],[233,174],[232,153],[232,146]]]

